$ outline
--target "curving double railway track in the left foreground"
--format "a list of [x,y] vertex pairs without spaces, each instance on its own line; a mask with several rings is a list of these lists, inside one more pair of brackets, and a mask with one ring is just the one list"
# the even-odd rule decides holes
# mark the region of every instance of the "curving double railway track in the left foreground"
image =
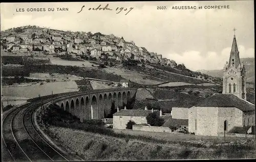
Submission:
[[[59,96],[63,96],[59,95]],[[55,96],[56,98],[56,96]],[[44,97],[43,103],[51,100]],[[51,146],[36,130],[33,121],[34,111],[41,100],[26,103],[10,111],[2,120],[2,153],[4,161],[69,161],[70,155],[63,154]],[[3,148],[5,147],[5,148]],[[7,153],[8,152],[8,153]],[[3,155],[3,154],[2,154]]]

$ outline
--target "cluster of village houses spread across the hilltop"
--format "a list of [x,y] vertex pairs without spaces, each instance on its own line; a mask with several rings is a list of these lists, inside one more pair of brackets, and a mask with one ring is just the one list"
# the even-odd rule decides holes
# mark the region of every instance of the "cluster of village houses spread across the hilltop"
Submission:
[[156,52],[149,52],[145,47],[138,47],[133,41],[127,42],[123,37],[111,35],[76,34],[74,32],[49,32],[37,31],[34,34],[16,34],[1,37],[1,42],[6,40],[6,50],[11,51],[44,51],[49,55],[69,53],[71,55],[88,55],[101,58],[106,54],[117,61],[134,59],[148,61],[170,66],[176,66],[175,61],[162,58]]

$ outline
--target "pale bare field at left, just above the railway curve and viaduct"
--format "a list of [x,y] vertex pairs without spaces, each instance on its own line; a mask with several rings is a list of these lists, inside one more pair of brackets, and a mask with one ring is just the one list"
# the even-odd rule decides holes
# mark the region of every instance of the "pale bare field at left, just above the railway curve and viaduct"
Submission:
[[16,96],[16,97],[26,97],[34,98],[45,95],[51,95],[52,91],[56,93],[74,92],[78,91],[78,87],[74,81],[70,82],[53,82],[44,84],[34,84],[24,87],[10,87],[2,86],[2,95],[4,96]]

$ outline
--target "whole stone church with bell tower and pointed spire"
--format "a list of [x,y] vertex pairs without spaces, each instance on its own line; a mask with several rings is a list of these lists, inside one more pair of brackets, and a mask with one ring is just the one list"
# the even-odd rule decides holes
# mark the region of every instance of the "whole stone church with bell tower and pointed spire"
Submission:
[[234,35],[229,61],[223,68],[222,94],[213,94],[188,109],[188,131],[223,136],[251,126],[255,126],[255,105],[246,100],[246,71]]

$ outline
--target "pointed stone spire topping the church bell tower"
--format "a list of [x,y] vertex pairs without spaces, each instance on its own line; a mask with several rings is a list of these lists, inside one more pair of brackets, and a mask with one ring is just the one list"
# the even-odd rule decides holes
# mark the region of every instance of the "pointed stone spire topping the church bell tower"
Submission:
[[232,43],[232,47],[231,47],[231,51],[230,51],[228,68],[230,68],[232,66],[235,68],[238,68],[239,65],[240,65],[239,51],[238,51],[236,35],[234,35],[233,43]]

